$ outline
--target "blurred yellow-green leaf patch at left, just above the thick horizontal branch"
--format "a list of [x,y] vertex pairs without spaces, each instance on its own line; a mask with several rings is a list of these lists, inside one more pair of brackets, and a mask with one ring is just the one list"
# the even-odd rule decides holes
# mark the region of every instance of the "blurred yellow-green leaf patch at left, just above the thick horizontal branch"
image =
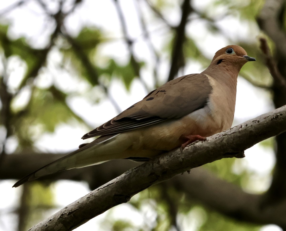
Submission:
[[[11,124],[20,147],[29,147],[44,132],[54,132],[55,127],[81,118],[67,106],[66,95],[55,86],[35,88],[28,105],[22,111],[12,111]],[[13,108],[12,108],[13,109]]]

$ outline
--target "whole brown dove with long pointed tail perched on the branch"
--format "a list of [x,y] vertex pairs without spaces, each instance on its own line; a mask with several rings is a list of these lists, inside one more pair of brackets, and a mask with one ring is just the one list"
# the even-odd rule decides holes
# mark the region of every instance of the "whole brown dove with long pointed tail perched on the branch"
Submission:
[[215,53],[199,74],[173,79],[82,139],[96,137],[79,149],[39,168],[13,187],[41,176],[112,159],[148,161],[174,148],[227,130],[234,118],[237,77],[248,61],[256,61],[238,45]]

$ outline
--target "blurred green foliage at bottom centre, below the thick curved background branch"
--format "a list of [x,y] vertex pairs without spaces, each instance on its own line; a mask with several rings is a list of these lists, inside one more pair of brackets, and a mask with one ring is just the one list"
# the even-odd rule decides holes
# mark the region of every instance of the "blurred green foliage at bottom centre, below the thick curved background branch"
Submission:
[[[176,206],[178,206],[178,214],[176,218],[181,217],[182,219],[180,220],[183,220],[184,226],[180,223],[178,224],[178,227],[180,227],[181,230],[189,230],[186,226],[190,226],[192,228],[196,227],[194,230],[197,231],[255,231],[260,229],[260,226],[239,222],[214,212],[172,188],[168,191],[170,191],[170,196],[172,198],[177,199],[171,200],[176,203]],[[156,212],[156,222],[152,230],[167,231],[171,230],[174,226],[174,224],[170,222],[172,220],[169,210],[170,201],[168,201],[168,199],[166,200],[165,194],[166,193],[160,186],[152,186],[130,200],[130,204],[132,204],[138,211],[141,211],[141,213],[143,213],[142,208],[144,208],[146,204],[150,206],[149,210]],[[134,228],[134,230],[136,229]]]

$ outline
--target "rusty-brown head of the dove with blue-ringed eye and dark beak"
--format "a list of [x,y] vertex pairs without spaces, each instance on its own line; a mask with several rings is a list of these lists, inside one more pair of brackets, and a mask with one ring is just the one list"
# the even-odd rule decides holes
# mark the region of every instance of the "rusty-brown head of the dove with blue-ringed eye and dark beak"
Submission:
[[237,78],[241,67],[248,61],[256,61],[256,59],[249,57],[242,47],[229,45],[215,53],[212,62],[203,73],[207,74],[212,71],[227,72]]

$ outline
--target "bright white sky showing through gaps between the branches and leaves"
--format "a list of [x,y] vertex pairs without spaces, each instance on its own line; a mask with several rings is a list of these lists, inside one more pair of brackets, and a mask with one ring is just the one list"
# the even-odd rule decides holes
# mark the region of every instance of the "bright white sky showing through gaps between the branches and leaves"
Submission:
[[[17,0],[1,1],[0,13],[2,12],[2,9],[5,9],[13,2],[17,2]],[[10,37],[18,38],[25,36],[35,47],[42,47],[47,43],[47,36],[50,34],[52,29],[49,19],[43,17],[44,14],[42,13],[42,9],[36,2],[37,1],[35,0],[27,1],[27,3],[22,7],[19,7],[17,10],[11,11],[10,13],[4,15],[3,18],[0,19],[0,22],[3,23],[5,21],[9,21],[11,23],[11,27],[9,28]],[[57,1],[49,2],[51,7],[50,9],[54,11],[57,9],[56,2]],[[65,3],[65,9],[69,9],[70,2],[71,0],[68,0]],[[168,2],[172,4],[171,0],[168,0]],[[198,9],[205,9],[209,2],[211,2],[211,0],[193,1],[194,6]],[[243,4],[244,1],[241,2]],[[149,73],[150,70],[152,70],[155,62],[152,62],[152,60],[154,61],[152,55],[146,52],[148,49],[146,49],[146,45],[142,43],[142,30],[138,24],[138,21],[134,20],[137,19],[136,11],[134,9],[134,2],[132,0],[125,0],[120,1],[120,4],[124,10],[128,22],[128,33],[132,38],[137,39],[135,53],[140,59],[148,63],[146,69],[142,71],[142,76],[144,81],[149,83],[148,86],[151,87],[153,80]],[[149,11],[147,11],[144,4],[142,4],[141,7],[147,21],[152,21],[152,15]],[[221,13],[223,11],[224,9],[221,7],[213,10],[212,13],[215,15],[216,13]],[[176,25],[180,19],[179,13],[180,9],[177,8],[176,11],[164,12],[164,15],[166,15],[166,18],[171,24]],[[233,39],[234,42],[235,38],[237,37],[245,40],[249,40],[251,38],[255,41],[259,33],[258,29],[251,28],[251,30],[248,30],[249,27],[246,26],[245,23],[246,22],[239,21],[237,17],[232,16],[219,21],[218,26],[224,31],[224,33],[229,34],[229,37]],[[230,27],[230,24],[236,26]],[[81,6],[77,7],[76,11],[66,19],[65,25],[67,31],[71,35],[77,35],[84,25],[95,25],[103,28],[111,38],[118,39],[115,39],[111,43],[102,45],[102,54],[106,56],[113,56],[116,60],[122,63],[126,61],[123,57],[125,54],[127,54],[127,50],[126,47],[122,46],[122,40],[120,39],[122,38],[121,26],[118,21],[114,4],[111,0],[83,1]],[[110,30],[111,28],[112,31]],[[157,48],[160,48],[164,44],[166,37],[170,36],[168,33],[166,33],[166,29],[164,29],[164,26],[160,21],[155,21],[155,23],[153,23],[148,29],[151,32],[152,41]],[[194,31],[196,33],[194,33]],[[205,23],[199,20],[194,20],[189,23],[187,33],[193,39],[195,39],[195,41],[197,41],[198,47],[209,58],[212,58],[214,53],[221,47],[229,45],[229,41],[227,41],[223,36],[210,35],[205,28]],[[52,63],[48,64],[50,67],[53,65],[56,66],[61,62],[61,57],[58,51],[52,51],[51,55],[53,57],[53,61]],[[19,68],[16,72],[12,71],[13,78],[11,78],[11,82],[9,82],[11,87],[17,86],[17,83],[20,81],[19,76],[21,76],[21,73],[23,73],[25,70],[25,66],[23,63],[21,63],[21,61],[19,61],[19,59],[14,58],[13,64],[15,64],[15,62],[19,63]],[[252,65],[252,63],[248,63],[246,65]],[[92,100],[88,101],[85,97],[82,97],[80,93],[86,91],[88,91],[88,94],[90,95],[96,94],[93,92],[95,90],[92,91],[89,89],[88,85],[81,83],[76,77],[70,76],[68,73],[59,74],[56,73],[55,70],[55,68],[51,68],[51,70],[47,73],[43,73],[37,84],[44,87],[55,82],[57,86],[67,92],[78,92],[79,94],[74,94],[73,97],[68,99],[68,103],[74,111],[85,118],[94,127],[106,122],[106,120],[114,117],[117,114],[116,110],[108,100],[102,100],[98,105],[94,105]],[[159,69],[160,80],[162,83],[166,79],[168,70],[168,57],[165,57],[165,62]],[[201,66],[198,63],[188,62],[184,73],[180,74],[184,75],[188,73],[198,73],[201,71]],[[61,77],[57,78],[57,75],[60,75]],[[67,82],[69,85],[66,85]],[[138,80],[134,80],[132,82],[130,92],[126,92],[124,85],[118,80],[112,81],[110,89],[112,96],[116,99],[122,110],[141,100],[148,93]],[[25,89],[25,91],[22,92],[21,97],[19,97],[17,103],[19,105],[24,104],[28,97],[29,89]],[[261,91],[261,89],[256,89],[244,79],[239,78],[234,125],[271,111],[273,106],[271,105],[271,100],[269,98],[269,93]],[[82,127],[78,124],[73,126],[61,124],[57,127],[54,134],[43,135],[43,137],[41,137],[41,139],[39,139],[37,142],[37,146],[44,151],[74,150],[78,147],[78,144],[81,144],[82,141],[80,138],[86,132],[88,132],[86,127]],[[66,134],[69,135],[67,136]],[[8,148],[8,150],[11,152],[15,148],[15,142],[16,141],[13,139],[10,141],[11,146]],[[49,145],[51,143],[54,144],[52,147]],[[234,166],[234,171],[239,172],[242,168],[245,168],[249,172],[252,172],[253,180],[249,182],[249,185],[245,186],[245,190],[249,192],[262,192],[270,183],[269,173],[271,172],[274,164],[273,151],[262,148],[260,145],[255,145],[254,147],[246,150],[245,154],[245,158],[237,160],[237,163]],[[11,187],[14,183],[15,182],[13,180],[5,180],[0,182],[0,191],[2,195],[0,198],[0,209],[2,211],[7,211],[17,206],[17,200],[19,200],[19,192],[21,191],[21,187],[12,189]],[[56,191],[56,203],[59,205],[59,207],[63,207],[89,192],[87,184],[79,182],[61,181],[55,183],[53,187]],[[9,199],[7,200],[7,198]],[[136,200],[136,196],[134,196],[133,200]],[[52,211],[51,214],[47,214],[47,216],[52,215],[56,211],[57,209]],[[146,207],[140,212],[135,211],[128,204],[123,204],[116,206],[114,209],[92,219],[76,230],[102,230],[103,227],[100,223],[106,215],[112,215],[116,218],[125,219],[126,217],[130,217],[130,214],[132,214],[131,221],[134,222],[135,226],[145,227],[148,230],[148,228],[150,228],[150,224],[155,222],[152,220],[154,213],[152,202],[150,205],[146,205]],[[128,216],[126,216],[126,214],[128,214]],[[189,216],[190,219],[188,219],[188,221],[184,220],[182,217],[178,218],[182,220],[185,230],[196,230],[196,228],[200,225],[197,214],[199,214],[198,211],[191,210]],[[11,225],[15,224],[13,222],[15,221],[14,215],[11,215],[10,213],[3,216],[1,214],[1,218],[0,231],[14,230],[14,227]],[[149,222],[146,222],[146,220]],[[108,230],[106,227],[105,229]],[[269,230],[278,231],[281,229],[277,226],[265,226],[261,229],[261,231]]]

